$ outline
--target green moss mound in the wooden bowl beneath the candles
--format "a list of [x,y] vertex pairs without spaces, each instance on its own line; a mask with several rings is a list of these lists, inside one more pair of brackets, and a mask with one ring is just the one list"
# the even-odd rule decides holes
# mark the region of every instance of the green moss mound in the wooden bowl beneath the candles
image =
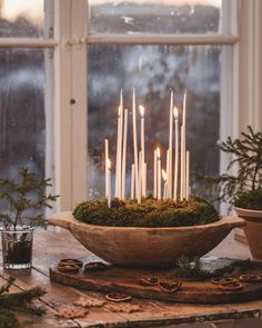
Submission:
[[206,200],[191,197],[188,201],[142,199],[112,199],[108,208],[105,199],[89,200],[73,210],[77,220],[110,227],[188,227],[206,225],[220,219],[218,211]]

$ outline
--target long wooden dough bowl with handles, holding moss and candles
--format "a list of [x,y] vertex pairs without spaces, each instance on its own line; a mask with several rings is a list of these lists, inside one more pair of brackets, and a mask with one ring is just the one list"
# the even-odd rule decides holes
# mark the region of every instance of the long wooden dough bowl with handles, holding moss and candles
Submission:
[[60,212],[50,225],[66,228],[103,260],[124,266],[172,266],[181,256],[203,256],[244,220],[223,217],[219,221],[191,227],[135,228],[82,223],[71,212]]

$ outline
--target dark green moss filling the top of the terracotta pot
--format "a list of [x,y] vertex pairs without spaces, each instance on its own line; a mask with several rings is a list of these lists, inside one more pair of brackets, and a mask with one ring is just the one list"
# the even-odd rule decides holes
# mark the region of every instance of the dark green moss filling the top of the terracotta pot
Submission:
[[233,198],[233,205],[245,209],[262,210],[262,189],[239,192]]

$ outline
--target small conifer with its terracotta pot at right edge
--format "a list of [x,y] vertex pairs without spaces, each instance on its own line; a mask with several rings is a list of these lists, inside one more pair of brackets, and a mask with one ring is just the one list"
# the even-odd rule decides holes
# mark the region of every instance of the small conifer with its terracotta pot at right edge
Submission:
[[220,200],[230,201],[246,221],[244,232],[254,259],[262,260],[262,132],[249,126],[240,139],[230,137],[220,149],[232,156],[228,169],[238,165],[234,176],[205,178],[220,187]]

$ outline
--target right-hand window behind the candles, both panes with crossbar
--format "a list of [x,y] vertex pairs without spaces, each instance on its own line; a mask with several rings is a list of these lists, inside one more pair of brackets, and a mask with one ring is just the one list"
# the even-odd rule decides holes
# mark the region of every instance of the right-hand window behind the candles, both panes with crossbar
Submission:
[[[223,80],[223,70],[232,57],[228,43],[235,42],[226,27],[230,16],[224,17],[224,12],[232,9],[215,0],[89,1],[89,197],[104,196],[103,140],[109,139],[114,159],[119,93],[123,89],[124,108],[131,109],[133,87],[138,105],[145,107],[148,193],[152,192],[153,149],[159,145],[165,167],[170,88],[174,90],[180,117],[183,92],[188,90],[187,141],[192,158],[191,187],[193,193],[203,192],[200,190],[203,186],[195,177],[220,172],[216,143],[223,116],[221,111],[224,110],[222,85],[232,88],[229,78]],[[226,73],[231,76],[232,69]],[[226,98],[231,96],[226,95]],[[129,141],[128,195],[133,160],[131,129]],[[214,191],[205,196],[212,199],[218,195]]]

